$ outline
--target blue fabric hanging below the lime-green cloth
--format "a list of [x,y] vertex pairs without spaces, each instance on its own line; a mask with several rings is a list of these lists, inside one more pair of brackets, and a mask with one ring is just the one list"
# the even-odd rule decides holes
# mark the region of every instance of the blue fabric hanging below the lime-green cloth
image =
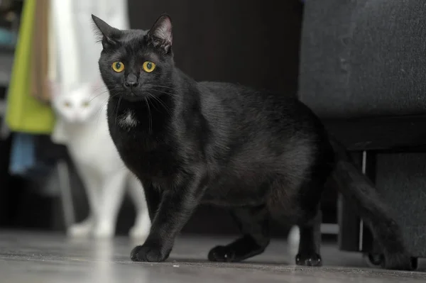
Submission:
[[10,173],[25,176],[34,166],[34,135],[30,133],[15,133],[12,140]]

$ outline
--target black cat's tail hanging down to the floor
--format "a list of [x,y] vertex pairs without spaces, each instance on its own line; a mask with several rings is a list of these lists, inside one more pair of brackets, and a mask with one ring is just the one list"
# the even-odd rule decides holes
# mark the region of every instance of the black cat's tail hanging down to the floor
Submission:
[[331,139],[331,143],[336,153],[332,179],[337,183],[339,192],[363,218],[383,250],[383,267],[413,270],[414,263],[405,250],[400,226],[392,218],[373,183],[356,168],[344,146],[334,139]]

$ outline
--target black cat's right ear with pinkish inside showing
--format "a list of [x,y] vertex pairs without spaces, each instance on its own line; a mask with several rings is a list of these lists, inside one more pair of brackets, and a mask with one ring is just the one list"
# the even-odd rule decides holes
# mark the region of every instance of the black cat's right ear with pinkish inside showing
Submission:
[[155,48],[160,48],[165,53],[170,52],[173,42],[170,16],[163,14],[155,21],[153,27],[148,31],[148,40]]

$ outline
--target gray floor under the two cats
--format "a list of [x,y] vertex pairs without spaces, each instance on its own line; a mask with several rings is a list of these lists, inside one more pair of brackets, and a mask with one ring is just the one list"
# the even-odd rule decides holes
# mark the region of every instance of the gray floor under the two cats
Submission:
[[366,267],[361,255],[342,253],[334,245],[323,245],[324,267],[293,265],[294,250],[274,240],[266,253],[249,262],[207,262],[213,245],[225,238],[180,238],[168,262],[136,263],[129,260],[134,243],[68,240],[61,235],[24,232],[0,233],[1,283],[62,282],[426,282],[423,272],[393,272]]

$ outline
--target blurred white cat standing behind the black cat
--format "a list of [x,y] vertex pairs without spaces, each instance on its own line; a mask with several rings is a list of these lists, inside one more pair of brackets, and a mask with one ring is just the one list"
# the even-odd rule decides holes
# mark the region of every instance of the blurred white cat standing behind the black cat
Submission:
[[111,238],[126,184],[136,206],[132,238],[146,238],[151,227],[141,182],[125,167],[109,135],[106,88],[102,81],[64,91],[52,84],[57,123],[52,140],[67,145],[89,200],[89,217],[68,228],[70,236]]

